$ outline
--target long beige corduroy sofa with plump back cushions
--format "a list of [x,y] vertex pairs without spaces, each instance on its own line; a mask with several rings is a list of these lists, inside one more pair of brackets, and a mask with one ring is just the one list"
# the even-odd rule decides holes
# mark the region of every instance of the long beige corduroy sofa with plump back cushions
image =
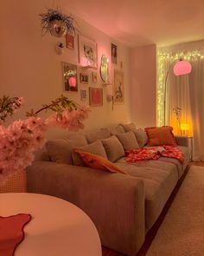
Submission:
[[[177,137],[185,156],[183,165],[165,157],[127,163],[124,149],[133,147],[135,139],[138,147],[147,142],[143,130],[130,124],[48,141],[28,168],[28,190],[72,202],[90,216],[102,245],[135,255],[190,159],[187,138]],[[83,166],[79,155],[73,154],[73,148],[79,147],[108,158],[128,175]]]

